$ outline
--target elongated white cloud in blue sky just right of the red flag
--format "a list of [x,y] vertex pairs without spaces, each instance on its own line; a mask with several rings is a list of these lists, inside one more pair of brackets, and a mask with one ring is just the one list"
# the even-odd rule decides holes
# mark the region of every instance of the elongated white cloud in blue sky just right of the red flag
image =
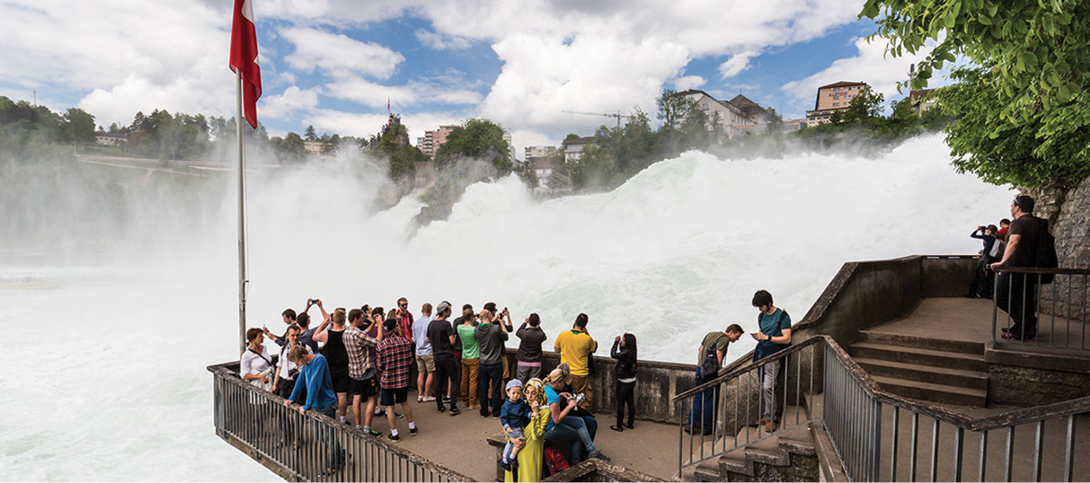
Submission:
[[284,60],[304,72],[317,67],[335,77],[359,74],[386,79],[405,60],[389,48],[355,40],[343,34],[303,27],[281,28],[279,33],[295,45],[295,51]]

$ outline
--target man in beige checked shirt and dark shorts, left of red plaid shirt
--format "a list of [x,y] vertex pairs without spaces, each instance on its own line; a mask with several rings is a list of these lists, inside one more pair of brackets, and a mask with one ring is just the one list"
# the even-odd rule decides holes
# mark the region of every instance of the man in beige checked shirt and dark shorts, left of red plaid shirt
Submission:
[[[371,351],[367,349],[383,342],[383,331],[378,331],[378,337],[368,335],[363,330],[367,318],[360,309],[349,311],[348,319],[349,326],[344,330],[343,340],[344,349],[348,351],[349,392],[352,394],[355,428],[372,436],[382,436],[383,433],[371,429],[371,422],[375,418],[375,406],[378,404],[378,379],[374,361],[371,360]],[[367,400],[367,408],[361,425],[360,405],[364,399]]]

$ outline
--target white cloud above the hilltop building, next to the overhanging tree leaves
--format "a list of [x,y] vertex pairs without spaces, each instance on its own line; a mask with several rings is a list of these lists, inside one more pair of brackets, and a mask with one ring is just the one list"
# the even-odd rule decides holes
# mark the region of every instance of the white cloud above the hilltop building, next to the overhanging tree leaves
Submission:
[[[865,38],[855,40],[858,53],[855,57],[837,59],[825,70],[784,85],[783,90],[795,102],[791,104],[798,111],[813,109],[813,99],[818,88],[826,84],[840,81],[861,81],[870,85],[875,92],[885,96],[888,101],[894,98],[904,97],[897,92],[897,83],[908,78],[909,64],[920,63],[921,60],[931,53],[934,44],[929,42],[928,47],[916,54],[906,53],[900,58],[893,58],[885,54],[887,44],[881,40],[868,42]],[[936,79],[942,73],[937,73]],[[942,85],[935,83],[935,86]],[[934,87],[934,86],[933,86]],[[796,115],[804,113],[797,112]]]

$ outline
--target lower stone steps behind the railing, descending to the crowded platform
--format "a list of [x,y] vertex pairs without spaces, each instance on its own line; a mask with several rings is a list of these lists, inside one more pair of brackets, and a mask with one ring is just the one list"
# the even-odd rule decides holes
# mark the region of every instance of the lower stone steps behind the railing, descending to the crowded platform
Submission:
[[[796,413],[806,420],[806,409],[789,406],[784,409],[783,423],[794,424]],[[741,448],[711,458],[681,475],[682,481],[819,481],[819,461],[814,439],[809,424],[767,436],[760,426],[742,426],[738,434],[717,438],[714,444],[704,443],[705,454],[712,448],[730,447],[735,442],[744,444]],[[722,450],[722,449],[720,449]],[[693,458],[700,458],[700,449],[693,448]]]

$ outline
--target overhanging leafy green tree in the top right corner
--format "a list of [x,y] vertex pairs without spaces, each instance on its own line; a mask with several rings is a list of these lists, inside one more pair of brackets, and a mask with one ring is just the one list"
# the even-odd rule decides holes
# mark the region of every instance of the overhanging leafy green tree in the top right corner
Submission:
[[1071,185],[1090,174],[1090,2],[868,0],[860,17],[875,18],[874,36],[887,38],[895,57],[942,39],[912,88],[956,55],[979,67],[955,74],[968,88],[940,96],[944,111],[960,116],[947,129],[956,166],[1026,187]]

